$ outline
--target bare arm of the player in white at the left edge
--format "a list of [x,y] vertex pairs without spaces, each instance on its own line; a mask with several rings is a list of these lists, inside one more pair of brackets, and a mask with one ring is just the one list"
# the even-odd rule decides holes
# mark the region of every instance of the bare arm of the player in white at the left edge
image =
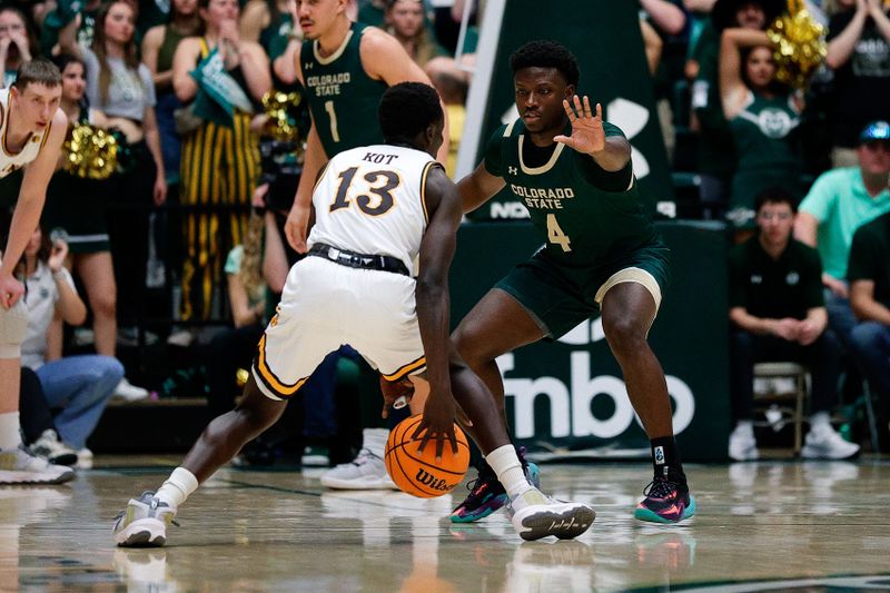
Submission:
[[24,246],[28,245],[28,240],[40,221],[40,213],[43,210],[43,201],[47,198],[47,186],[56,170],[67,131],[68,120],[65,113],[58,110],[52,116],[47,144],[24,169],[19,200],[9,229],[9,239],[3,249],[2,261],[0,261],[0,306],[3,308],[8,309],[14,305],[24,294],[22,284],[12,276],[12,268],[21,258]]

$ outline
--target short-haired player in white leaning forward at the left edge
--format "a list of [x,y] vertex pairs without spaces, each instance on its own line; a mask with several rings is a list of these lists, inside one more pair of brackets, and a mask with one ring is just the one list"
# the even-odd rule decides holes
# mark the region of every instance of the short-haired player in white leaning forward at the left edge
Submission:
[[[42,59],[24,62],[9,89],[0,90],[0,177],[24,168],[6,248],[0,256],[0,484],[59,484],[68,467],[32,456],[19,434],[20,346],[28,327],[24,286],[13,276],[43,209],[68,130],[59,109],[62,78]],[[72,196],[73,199],[73,196]]]

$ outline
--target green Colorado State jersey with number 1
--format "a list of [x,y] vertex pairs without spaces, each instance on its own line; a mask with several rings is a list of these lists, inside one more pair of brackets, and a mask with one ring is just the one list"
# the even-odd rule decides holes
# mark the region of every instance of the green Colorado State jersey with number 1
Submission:
[[377,106],[386,82],[374,80],[362,67],[358,46],[366,29],[354,22],[343,46],[327,58],[318,55],[318,41],[304,41],[300,49],[309,111],[328,158],[384,141]]

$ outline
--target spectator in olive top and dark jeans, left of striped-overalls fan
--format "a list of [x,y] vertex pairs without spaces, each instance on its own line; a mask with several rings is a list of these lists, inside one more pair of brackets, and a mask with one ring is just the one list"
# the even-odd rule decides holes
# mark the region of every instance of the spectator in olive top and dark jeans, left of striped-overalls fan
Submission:
[[169,22],[152,27],[142,39],[142,63],[148,67],[155,82],[155,113],[169,185],[179,182],[181,145],[174,117],[176,110],[182,107],[174,92],[174,53],[179,41],[197,34],[201,26],[197,0],[174,0]]

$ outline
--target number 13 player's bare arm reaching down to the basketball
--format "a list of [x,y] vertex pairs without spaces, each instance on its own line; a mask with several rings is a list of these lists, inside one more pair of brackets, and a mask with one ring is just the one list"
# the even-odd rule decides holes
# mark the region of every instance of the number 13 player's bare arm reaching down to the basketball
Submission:
[[456,405],[449,376],[448,268],[454,258],[457,226],[461,224],[457,189],[441,167],[434,167],[427,176],[425,199],[429,224],[421,243],[421,275],[417,278],[416,300],[417,324],[426,354],[429,397],[417,431],[426,431],[422,447],[427,438],[435,438],[438,458],[442,456],[445,439],[457,452],[454,436]]

